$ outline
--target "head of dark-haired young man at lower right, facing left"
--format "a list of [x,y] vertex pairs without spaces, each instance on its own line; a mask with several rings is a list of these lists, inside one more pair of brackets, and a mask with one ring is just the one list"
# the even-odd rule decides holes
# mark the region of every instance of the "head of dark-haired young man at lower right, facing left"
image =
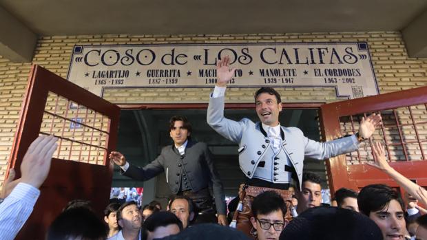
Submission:
[[404,201],[393,188],[372,184],[357,196],[359,210],[377,223],[384,240],[403,240],[406,234]]

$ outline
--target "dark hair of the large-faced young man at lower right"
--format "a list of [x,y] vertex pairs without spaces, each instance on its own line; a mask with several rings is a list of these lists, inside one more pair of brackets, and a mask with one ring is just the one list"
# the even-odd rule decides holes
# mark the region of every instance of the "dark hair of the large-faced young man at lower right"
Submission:
[[405,209],[400,193],[384,184],[371,184],[360,190],[357,205],[360,212],[369,216],[371,212],[384,209],[391,200],[398,201],[402,210]]

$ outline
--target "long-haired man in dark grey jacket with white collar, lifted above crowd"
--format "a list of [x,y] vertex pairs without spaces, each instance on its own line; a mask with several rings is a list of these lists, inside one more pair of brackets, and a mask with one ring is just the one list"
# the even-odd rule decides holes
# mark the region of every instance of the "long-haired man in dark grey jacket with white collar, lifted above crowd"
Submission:
[[147,181],[165,171],[172,193],[189,197],[202,214],[215,212],[209,191],[211,187],[218,223],[227,225],[225,194],[207,144],[189,139],[191,124],[185,116],[172,117],[169,131],[174,144],[165,146],[156,160],[143,168],[129,164],[119,152],[110,153],[110,159],[121,167],[121,174],[139,181]]

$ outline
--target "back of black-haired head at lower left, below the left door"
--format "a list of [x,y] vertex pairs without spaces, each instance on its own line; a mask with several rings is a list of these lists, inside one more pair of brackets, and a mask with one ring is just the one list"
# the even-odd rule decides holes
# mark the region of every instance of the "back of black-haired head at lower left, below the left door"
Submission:
[[61,212],[48,229],[46,240],[107,239],[107,226],[94,212],[85,207],[70,208]]

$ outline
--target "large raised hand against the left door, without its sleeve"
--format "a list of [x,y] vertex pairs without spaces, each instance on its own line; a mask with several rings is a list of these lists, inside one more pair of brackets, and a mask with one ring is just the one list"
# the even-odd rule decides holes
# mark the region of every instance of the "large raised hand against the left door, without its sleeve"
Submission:
[[52,155],[58,146],[53,136],[39,136],[28,148],[21,163],[21,182],[39,188],[50,171]]

